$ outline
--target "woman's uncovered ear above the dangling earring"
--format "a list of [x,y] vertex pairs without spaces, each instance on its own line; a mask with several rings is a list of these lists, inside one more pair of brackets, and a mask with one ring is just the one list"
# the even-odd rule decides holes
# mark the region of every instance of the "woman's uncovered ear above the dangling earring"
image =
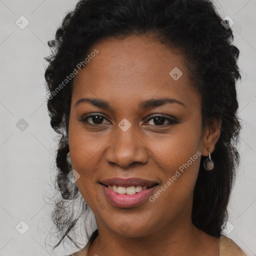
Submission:
[[[215,144],[218,141],[220,135],[221,119],[212,117],[207,121],[207,124],[203,130],[203,145],[202,145],[202,155],[208,156],[208,152],[214,150]],[[210,150],[208,150],[210,149]]]

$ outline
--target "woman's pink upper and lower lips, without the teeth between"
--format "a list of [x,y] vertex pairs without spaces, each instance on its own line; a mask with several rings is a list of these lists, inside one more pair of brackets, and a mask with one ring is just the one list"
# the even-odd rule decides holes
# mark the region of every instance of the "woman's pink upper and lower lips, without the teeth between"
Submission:
[[[134,207],[146,201],[156,187],[154,184],[157,184],[156,182],[140,178],[111,178],[102,180],[100,183],[108,201],[113,206],[121,208]],[[140,185],[152,187],[144,189],[135,194],[118,194],[115,193],[112,189],[109,189],[106,185],[117,185],[124,187]]]

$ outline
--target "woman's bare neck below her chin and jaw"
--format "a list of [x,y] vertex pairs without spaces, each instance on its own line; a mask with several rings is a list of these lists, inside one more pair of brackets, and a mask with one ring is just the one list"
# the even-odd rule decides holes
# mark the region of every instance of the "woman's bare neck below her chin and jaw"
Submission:
[[[98,236],[89,247],[88,255],[199,255],[209,247],[208,235],[198,230],[191,221],[163,226],[142,237],[124,237],[98,226]],[[208,240],[206,243],[205,241]],[[214,254],[215,255],[215,254]]]

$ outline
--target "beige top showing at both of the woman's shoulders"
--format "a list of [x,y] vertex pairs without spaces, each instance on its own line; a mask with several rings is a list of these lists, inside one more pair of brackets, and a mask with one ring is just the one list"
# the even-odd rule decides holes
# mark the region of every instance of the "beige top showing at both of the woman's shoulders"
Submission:
[[[92,241],[91,241],[92,243]],[[80,250],[68,255],[68,256],[88,256],[88,249],[90,242]],[[220,235],[219,238],[219,256],[246,256],[241,248],[230,238],[225,235]]]

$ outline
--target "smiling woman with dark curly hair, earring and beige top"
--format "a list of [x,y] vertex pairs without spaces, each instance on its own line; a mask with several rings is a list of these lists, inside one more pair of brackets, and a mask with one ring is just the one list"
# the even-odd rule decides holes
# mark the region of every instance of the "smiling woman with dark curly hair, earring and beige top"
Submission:
[[91,209],[97,229],[72,255],[244,255],[221,235],[239,163],[232,39],[209,0],[81,0],[66,14],[45,71],[55,247],[77,245]]

